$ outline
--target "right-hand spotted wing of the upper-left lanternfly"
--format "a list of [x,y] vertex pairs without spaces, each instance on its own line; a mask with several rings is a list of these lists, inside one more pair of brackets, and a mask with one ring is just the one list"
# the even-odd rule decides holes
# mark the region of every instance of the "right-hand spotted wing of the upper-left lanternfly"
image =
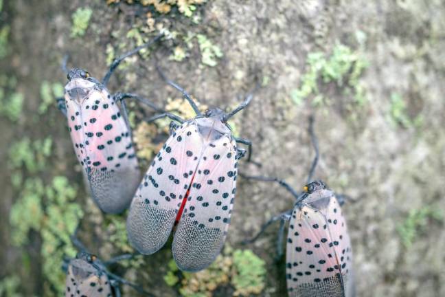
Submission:
[[126,122],[106,89],[89,96],[81,116],[93,199],[104,212],[122,212],[141,181]]

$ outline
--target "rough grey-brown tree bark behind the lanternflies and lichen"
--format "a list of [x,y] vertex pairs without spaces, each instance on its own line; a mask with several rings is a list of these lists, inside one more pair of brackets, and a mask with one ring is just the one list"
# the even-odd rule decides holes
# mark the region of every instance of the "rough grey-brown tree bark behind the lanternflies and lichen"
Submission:
[[[93,9],[87,34],[71,39],[71,14],[84,5]],[[138,7],[108,6],[104,1],[4,1],[3,21],[11,26],[10,54],[0,65],[2,72],[18,78],[16,88],[25,95],[19,124],[0,119],[0,267],[6,267],[5,273],[20,263],[20,254],[10,245],[6,219],[17,198],[6,160],[10,143],[23,135],[52,135],[55,145],[49,168],[82,183],[65,122],[53,107],[43,116],[35,112],[41,100],[40,85],[43,80],[65,82],[59,65],[67,52],[71,65],[100,77],[106,69],[106,44],[125,41],[111,39],[112,32],[130,30]],[[308,115],[315,113],[321,151],[316,177],[353,199],[343,212],[352,237],[358,296],[445,296],[443,223],[426,218],[426,228],[416,233],[409,247],[402,244],[398,232],[410,210],[430,206],[444,212],[445,208],[445,3],[218,0],[198,9],[203,14],[198,25],[184,21],[181,14],[172,23],[183,32],[205,32],[223,51],[218,65],[201,67],[196,51],[181,63],[168,61],[172,50],[168,42],[156,55],[170,78],[209,106],[233,107],[255,85],[255,78],[269,79],[251,105],[237,115],[238,131],[253,141],[253,159],[262,167],[242,162],[240,171],[281,177],[301,188],[314,154],[307,126]],[[356,39],[358,31],[367,36],[363,45]],[[295,104],[290,94],[300,87],[307,72],[308,54],[330,53],[336,43],[358,49],[369,62],[360,78],[369,100],[361,108],[347,109],[351,102],[342,88],[320,81],[327,104],[314,106],[310,98]],[[152,58],[137,58],[112,78],[110,88],[137,91],[159,105],[169,96],[178,96],[156,74]],[[404,112],[410,118],[422,115],[421,126],[391,124],[393,93],[405,100]],[[27,121],[39,116],[38,125]],[[235,247],[258,232],[267,219],[293,206],[293,197],[279,186],[238,180],[227,238]],[[284,263],[273,261],[276,230],[277,225],[251,245],[268,263],[264,296],[286,294]],[[30,236],[36,237],[36,248],[28,248],[33,273],[22,289],[26,294],[41,294],[38,236]],[[82,237],[92,241],[91,245],[98,244],[89,238],[88,230]],[[144,271],[131,278],[157,296],[174,296],[161,278],[167,257],[168,249],[149,257]]]

